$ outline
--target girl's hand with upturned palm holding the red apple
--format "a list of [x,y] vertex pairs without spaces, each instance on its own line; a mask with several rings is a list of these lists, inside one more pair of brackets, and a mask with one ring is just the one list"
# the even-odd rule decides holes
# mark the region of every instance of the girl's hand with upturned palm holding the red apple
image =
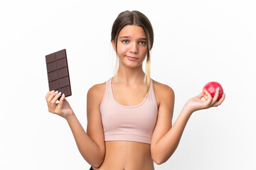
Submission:
[[206,94],[208,95],[207,101],[201,100],[201,98],[203,98],[203,92],[198,94],[198,96],[193,97],[188,100],[186,105],[190,109],[191,113],[193,113],[194,111],[199,111],[201,109],[220,106],[220,104],[223,103],[223,101],[225,99],[225,94],[223,94],[223,96],[220,98],[220,100],[217,101],[218,95],[219,95],[218,89],[216,90],[216,94],[215,94],[214,98],[212,98],[212,96],[207,91],[206,91]]

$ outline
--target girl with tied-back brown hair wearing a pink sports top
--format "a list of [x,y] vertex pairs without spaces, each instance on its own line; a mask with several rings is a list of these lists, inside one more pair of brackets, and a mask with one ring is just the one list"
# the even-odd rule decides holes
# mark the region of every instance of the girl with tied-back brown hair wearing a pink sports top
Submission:
[[[112,46],[119,59],[114,77],[87,92],[87,132],[75,116],[65,94],[48,92],[48,111],[65,118],[82,157],[99,170],[153,170],[166,162],[178,146],[183,130],[195,111],[219,106],[208,94],[191,98],[174,125],[174,91],[150,78],[149,51],[154,42],[148,18],[139,11],[124,11],[112,27]],[[146,73],[142,63],[146,58]],[[118,60],[117,60],[118,61]],[[117,70],[117,72],[116,72]]]

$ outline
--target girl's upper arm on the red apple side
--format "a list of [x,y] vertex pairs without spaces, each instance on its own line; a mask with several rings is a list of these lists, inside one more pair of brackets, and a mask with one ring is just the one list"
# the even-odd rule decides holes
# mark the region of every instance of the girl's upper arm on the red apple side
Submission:
[[[171,129],[171,120],[174,114],[174,91],[167,85],[158,85],[155,88],[156,98],[159,100],[159,112],[156,126],[151,139],[151,153],[154,154],[156,143]],[[152,155],[153,157],[153,155]]]

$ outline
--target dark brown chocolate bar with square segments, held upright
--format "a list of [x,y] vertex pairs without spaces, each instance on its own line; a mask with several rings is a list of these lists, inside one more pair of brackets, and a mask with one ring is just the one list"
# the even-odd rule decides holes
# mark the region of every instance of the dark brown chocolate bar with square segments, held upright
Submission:
[[59,91],[65,97],[71,96],[70,77],[66,50],[46,55],[48,85],[50,91]]

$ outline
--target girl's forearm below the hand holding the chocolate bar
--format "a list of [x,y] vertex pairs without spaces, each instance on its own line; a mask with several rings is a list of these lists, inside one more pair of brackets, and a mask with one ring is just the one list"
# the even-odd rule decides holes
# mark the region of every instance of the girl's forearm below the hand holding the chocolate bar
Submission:
[[100,166],[104,159],[104,151],[100,150],[97,143],[87,135],[75,114],[66,118],[66,120],[68,121],[68,125],[70,125],[70,129],[73,132],[75,142],[78,145],[82,157],[88,164],[95,167]]

